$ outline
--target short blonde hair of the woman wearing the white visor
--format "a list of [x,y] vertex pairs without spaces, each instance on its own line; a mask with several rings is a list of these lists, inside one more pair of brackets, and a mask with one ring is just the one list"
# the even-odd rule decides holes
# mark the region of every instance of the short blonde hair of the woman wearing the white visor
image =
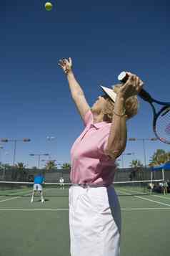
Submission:
[[[114,93],[119,92],[119,88],[121,87],[121,84],[114,85]],[[129,97],[125,102],[125,110],[127,119],[132,118],[134,115],[137,114],[139,109],[139,101],[137,99],[137,96],[131,96]],[[104,120],[106,122],[111,122],[114,114],[114,102],[110,98],[106,98],[106,105],[103,110],[104,113]]]

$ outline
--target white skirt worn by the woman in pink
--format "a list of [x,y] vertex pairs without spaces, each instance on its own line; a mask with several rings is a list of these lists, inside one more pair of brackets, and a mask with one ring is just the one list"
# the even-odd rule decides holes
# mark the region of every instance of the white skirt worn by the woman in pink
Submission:
[[71,256],[120,256],[121,209],[114,187],[69,189]]

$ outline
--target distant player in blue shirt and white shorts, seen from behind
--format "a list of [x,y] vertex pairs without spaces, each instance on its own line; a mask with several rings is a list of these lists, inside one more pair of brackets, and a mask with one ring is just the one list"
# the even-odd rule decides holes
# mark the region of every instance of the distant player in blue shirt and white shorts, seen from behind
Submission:
[[41,196],[41,203],[44,203],[44,197],[43,197],[43,188],[42,188],[42,184],[44,184],[44,176],[42,174],[37,174],[34,177],[34,187],[33,187],[33,192],[32,192],[32,196],[31,196],[31,203],[33,203],[34,201],[34,195],[36,193],[39,193]]

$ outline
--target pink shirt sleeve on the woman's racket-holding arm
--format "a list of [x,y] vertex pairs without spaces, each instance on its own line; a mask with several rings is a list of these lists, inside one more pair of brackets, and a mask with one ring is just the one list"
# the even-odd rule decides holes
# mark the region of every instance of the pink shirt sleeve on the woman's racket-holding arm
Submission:
[[108,138],[109,138],[109,133],[106,134],[105,136],[103,136],[103,138],[101,138],[101,141],[97,147],[98,152],[99,152],[99,160],[103,165],[115,166],[116,159],[111,158],[110,156],[106,155],[106,153],[105,153]]

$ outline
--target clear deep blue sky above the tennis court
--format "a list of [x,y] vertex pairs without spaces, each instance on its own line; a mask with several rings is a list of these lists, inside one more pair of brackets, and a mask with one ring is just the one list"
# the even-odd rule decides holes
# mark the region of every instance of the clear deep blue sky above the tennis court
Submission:
[[[70,162],[71,145],[83,129],[57,64],[62,57],[72,58],[89,105],[101,93],[99,85],[113,85],[122,70],[138,74],[154,98],[170,101],[168,1],[58,0],[51,1],[52,11],[44,9],[45,2],[8,0],[0,8],[0,138],[31,138],[16,148],[16,162],[27,166],[37,164],[29,153]],[[140,103],[128,135],[152,138],[151,109]],[[169,151],[159,141],[145,145],[147,162],[157,148]],[[12,163],[14,143],[3,146],[1,161]],[[124,156],[124,166],[132,158],[144,161],[142,141],[128,142],[124,153],[129,152],[135,155]]]

